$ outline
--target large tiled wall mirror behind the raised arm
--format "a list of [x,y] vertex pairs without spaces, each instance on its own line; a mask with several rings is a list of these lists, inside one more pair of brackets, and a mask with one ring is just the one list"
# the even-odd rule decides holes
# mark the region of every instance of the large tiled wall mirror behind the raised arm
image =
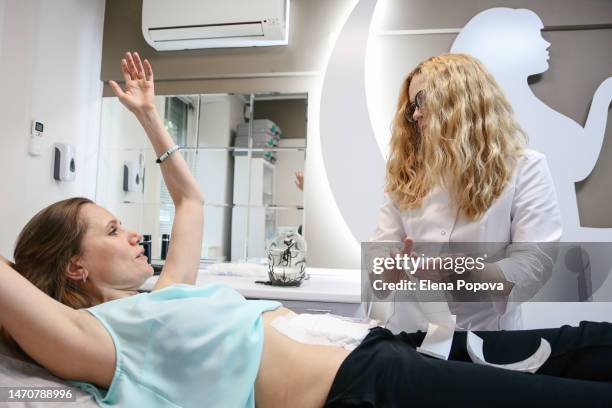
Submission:
[[[158,96],[156,104],[204,192],[203,261],[259,261],[279,231],[303,229],[296,173],[304,171],[306,94]],[[174,218],[155,159],[133,115],[103,98],[96,201],[151,235],[153,261]]]

